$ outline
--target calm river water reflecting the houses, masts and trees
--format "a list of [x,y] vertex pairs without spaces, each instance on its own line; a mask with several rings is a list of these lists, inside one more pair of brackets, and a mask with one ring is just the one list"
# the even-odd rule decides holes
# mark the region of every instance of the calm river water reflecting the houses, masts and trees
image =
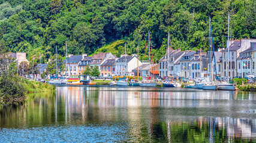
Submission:
[[256,142],[256,93],[61,86],[0,104],[0,142]]

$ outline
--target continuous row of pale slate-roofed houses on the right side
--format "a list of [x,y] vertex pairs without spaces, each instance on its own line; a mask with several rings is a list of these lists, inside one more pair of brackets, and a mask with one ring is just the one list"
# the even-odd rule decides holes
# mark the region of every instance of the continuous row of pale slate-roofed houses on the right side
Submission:
[[[214,60],[215,59],[215,60]],[[216,62],[215,62],[216,61]],[[256,39],[227,41],[218,51],[180,51],[167,49],[159,60],[159,76],[196,77],[246,77],[255,75]],[[216,64],[216,65],[215,65]]]

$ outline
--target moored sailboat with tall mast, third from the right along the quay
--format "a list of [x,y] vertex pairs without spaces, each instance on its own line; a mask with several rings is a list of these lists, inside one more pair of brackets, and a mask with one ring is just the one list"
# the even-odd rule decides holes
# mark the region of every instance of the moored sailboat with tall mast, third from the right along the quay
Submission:
[[[170,54],[170,32],[168,32],[168,42],[167,42],[167,48],[168,48],[168,65],[169,65],[169,54]],[[165,67],[165,66],[164,66]],[[169,66],[167,67],[167,76],[168,76],[168,70],[169,70]],[[164,70],[165,71],[165,70]],[[166,79],[163,83],[162,86],[164,86],[164,88],[179,88],[181,86],[180,83],[177,82],[177,80],[174,79]]]

